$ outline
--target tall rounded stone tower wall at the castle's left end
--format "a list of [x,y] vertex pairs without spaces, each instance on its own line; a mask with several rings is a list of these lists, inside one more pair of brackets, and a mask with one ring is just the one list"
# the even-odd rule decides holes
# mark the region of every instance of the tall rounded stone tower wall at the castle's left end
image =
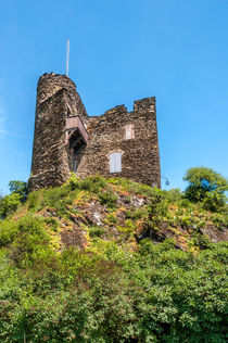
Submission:
[[69,177],[65,118],[87,112],[75,84],[65,75],[45,74],[37,87],[36,120],[29,191],[60,186]]

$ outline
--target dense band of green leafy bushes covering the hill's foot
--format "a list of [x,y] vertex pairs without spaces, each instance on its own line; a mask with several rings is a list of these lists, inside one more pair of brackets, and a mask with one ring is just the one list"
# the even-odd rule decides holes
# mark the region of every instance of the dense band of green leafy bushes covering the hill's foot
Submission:
[[26,272],[0,254],[0,340],[226,342],[227,247],[194,257],[144,240],[132,255],[112,243],[100,256],[37,254]]

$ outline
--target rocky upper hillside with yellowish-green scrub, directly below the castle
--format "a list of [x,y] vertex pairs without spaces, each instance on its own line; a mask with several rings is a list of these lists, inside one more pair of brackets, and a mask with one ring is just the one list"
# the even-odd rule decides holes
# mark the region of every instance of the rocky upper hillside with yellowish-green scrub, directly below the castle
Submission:
[[73,177],[61,188],[31,193],[13,220],[29,213],[43,218],[56,251],[88,250],[105,242],[137,250],[143,238],[154,243],[173,238],[178,249],[197,251],[228,240],[226,213],[206,212],[177,190],[161,191],[126,179]]

